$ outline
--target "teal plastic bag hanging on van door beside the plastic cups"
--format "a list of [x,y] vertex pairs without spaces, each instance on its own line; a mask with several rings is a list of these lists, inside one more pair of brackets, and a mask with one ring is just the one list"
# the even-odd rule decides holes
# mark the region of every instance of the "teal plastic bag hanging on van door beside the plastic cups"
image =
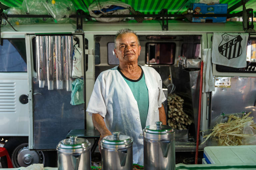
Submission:
[[78,78],[72,83],[71,105],[84,103],[84,80]]

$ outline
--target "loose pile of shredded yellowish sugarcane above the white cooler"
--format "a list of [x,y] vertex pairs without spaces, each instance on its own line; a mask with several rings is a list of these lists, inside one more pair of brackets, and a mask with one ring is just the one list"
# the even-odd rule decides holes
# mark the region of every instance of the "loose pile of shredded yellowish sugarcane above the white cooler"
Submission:
[[[215,138],[218,141],[219,146],[229,146],[229,145],[242,145],[242,138],[248,137],[253,134],[243,134],[243,128],[246,125],[251,126],[256,129],[256,124],[254,124],[253,117],[248,117],[252,112],[249,112],[242,117],[230,115],[228,116],[228,122],[216,124],[212,132],[206,137],[206,142],[209,138]],[[202,142],[201,144],[203,144]]]

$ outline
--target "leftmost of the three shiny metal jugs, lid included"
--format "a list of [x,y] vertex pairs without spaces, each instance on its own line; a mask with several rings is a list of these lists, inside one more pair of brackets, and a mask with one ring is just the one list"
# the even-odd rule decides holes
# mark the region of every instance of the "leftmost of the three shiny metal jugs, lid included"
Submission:
[[90,170],[91,143],[84,138],[70,136],[57,145],[58,170]]

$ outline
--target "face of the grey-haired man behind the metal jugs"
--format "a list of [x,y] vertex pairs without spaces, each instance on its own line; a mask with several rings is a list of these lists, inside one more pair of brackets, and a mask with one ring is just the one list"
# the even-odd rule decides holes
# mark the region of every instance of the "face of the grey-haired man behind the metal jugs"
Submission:
[[137,62],[140,55],[141,46],[133,33],[119,35],[116,39],[116,57],[120,63],[126,64]]

